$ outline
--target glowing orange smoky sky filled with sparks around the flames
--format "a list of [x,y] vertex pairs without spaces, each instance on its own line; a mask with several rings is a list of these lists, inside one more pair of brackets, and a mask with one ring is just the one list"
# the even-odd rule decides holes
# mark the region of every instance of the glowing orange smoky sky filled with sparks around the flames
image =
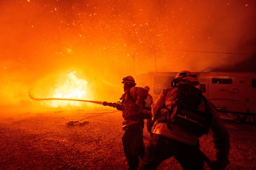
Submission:
[[256,53],[255,9],[252,0],[2,0],[1,108],[42,111],[28,91],[50,98],[73,71],[87,81],[84,99],[108,102],[127,75],[238,71]]

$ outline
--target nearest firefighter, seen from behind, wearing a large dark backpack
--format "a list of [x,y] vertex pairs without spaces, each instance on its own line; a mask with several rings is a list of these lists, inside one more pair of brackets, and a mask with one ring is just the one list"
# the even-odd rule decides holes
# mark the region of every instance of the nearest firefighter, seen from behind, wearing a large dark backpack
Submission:
[[183,170],[203,170],[198,138],[209,129],[216,149],[216,160],[209,163],[210,169],[224,170],[229,164],[229,133],[213,104],[196,85],[199,81],[195,75],[181,71],[173,79],[172,87],[163,89],[152,104],[153,137],[140,170],[156,170],[163,160],[172,156]]

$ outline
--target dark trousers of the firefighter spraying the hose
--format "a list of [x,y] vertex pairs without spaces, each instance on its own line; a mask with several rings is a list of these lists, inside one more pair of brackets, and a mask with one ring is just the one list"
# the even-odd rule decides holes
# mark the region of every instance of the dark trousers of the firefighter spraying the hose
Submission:
[[137,170],[139,159],[143,159],[145,145],[143,143],[143,127],[131,125],[126,128],[122,136],[122,143],[129,170]]

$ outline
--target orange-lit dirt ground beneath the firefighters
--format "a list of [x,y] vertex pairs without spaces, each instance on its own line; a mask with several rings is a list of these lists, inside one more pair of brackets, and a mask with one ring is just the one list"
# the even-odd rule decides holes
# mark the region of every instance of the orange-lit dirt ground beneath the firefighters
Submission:
[[[122,114],[104,110],[0,115],[1,170],[126,170],[122,149]],[[70,120],[87,121],[85,125]],[[256,125],[225,121],[230,132],[227,170],[256,169]],[[144,141],[150,136],[144,128]],[[201,137],[201,150],[214,159],[211,133]],[[159,170],[181,170],[170,158]],[[205,170],[209,170],[207,164]]]

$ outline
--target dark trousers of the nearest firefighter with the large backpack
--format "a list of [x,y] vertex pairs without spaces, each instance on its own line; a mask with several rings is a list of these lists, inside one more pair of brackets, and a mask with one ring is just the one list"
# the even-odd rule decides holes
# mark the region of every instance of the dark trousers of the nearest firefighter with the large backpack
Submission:
[[163,160],[172,156],[180,163],[183,170],[204,169],[204,160],[199,150],[199,144],[191,146],[153,134],[139,170],[156,170]]

